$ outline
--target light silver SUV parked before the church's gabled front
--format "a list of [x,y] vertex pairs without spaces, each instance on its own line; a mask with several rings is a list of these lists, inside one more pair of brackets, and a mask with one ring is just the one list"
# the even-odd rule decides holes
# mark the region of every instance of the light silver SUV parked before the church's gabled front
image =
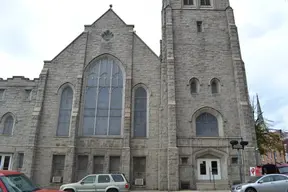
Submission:
[[93,174],[77,183],[64,184],[62,191],[69,192],[128,192],[129,184],[123,174]]

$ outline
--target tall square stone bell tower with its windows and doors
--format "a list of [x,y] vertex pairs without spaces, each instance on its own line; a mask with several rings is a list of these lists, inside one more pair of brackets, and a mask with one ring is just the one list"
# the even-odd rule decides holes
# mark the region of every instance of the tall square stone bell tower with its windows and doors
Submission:
[[187,180],[189,188],[200,189],[212,169],[229,186],[239,175],[229,169],[229,138],[249,142],[243,153],[248,176],[255,130],[229,0],[163,0],[161,62],[168,190]]

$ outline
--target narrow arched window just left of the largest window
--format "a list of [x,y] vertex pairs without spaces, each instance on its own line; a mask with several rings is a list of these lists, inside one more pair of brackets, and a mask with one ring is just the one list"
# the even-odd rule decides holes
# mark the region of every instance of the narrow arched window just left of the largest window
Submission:
[[69,136],[71,111],[73,104],[73,90],[67,86],[61,94],[57,136]]

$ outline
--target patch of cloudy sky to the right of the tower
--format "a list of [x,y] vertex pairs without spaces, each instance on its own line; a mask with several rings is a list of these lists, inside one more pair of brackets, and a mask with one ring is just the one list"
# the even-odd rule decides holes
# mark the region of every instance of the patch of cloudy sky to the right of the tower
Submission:
[[231,6],[250,94],[259,94],[264,116],[274,128],[288,129],[288,1],[232,0]]

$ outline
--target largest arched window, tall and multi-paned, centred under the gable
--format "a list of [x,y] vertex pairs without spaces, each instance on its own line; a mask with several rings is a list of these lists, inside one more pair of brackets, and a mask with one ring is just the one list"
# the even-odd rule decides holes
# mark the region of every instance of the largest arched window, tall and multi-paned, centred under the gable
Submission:
[[84,136],[121,135],[124,84],[117,62],[101,57],[86,70]]

